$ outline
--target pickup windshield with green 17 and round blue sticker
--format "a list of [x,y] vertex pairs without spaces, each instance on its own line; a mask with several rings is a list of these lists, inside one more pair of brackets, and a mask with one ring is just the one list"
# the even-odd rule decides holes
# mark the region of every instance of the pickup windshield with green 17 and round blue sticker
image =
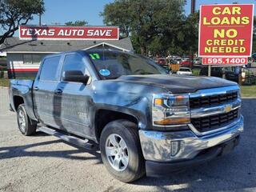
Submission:
[[113,50],[86,51],[98,74],[104,79],[122,75],[167,74],[149,58]]

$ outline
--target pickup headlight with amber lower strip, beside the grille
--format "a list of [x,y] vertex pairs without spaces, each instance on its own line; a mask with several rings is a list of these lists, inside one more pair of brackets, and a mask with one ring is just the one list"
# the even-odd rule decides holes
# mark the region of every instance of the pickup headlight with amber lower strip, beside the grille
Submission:
[[190,123],[189,96],[186,94],[154,94],[152,121],[154,126]]

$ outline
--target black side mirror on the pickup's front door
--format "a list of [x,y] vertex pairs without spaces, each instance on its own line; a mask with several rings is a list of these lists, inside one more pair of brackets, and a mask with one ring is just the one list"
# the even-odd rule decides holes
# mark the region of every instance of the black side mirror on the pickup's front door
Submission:
[[66,70],[63,73],[63,81],[66,82],[82,82],[86,84],[89,78],[90,77],[83,74],[81,70]]

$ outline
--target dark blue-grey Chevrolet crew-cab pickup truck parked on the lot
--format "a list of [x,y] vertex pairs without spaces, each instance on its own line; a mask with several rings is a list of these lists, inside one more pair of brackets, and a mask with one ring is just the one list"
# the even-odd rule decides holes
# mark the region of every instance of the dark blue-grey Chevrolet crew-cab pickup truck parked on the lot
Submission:
[[122,182],[230,152],[243,130],[240,108],[235,82],[170,75],[150,59],[118,50],[50,54],[34,81],[10,82],[10,110],[22,134],[41,130],[97,146]]

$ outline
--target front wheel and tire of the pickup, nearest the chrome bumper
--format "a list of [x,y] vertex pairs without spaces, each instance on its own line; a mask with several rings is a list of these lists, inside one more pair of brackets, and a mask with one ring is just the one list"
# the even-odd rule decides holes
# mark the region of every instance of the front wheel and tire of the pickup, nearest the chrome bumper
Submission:
[[[116,146],[111,142],[113,140],[115,140]],[[122,140],[126,147],[121,142]],[[108,150],[110,151],[108,153],[109,155],[106,153],[107,148],[111,149]],[[134,122],[120,119],[108,123],[102,130],[100,150],[102,162],[106,166],[106,169],[119,181],[134,182],[138,178],[142,178],[145,174],[145,161],[138,137],[138,129]],[[115,150],[114,154],[112,152],[113,150]],[[114,163],[115,159],[119,157],[122,160],[117,160],[116,162],[119,161],[119,163]]]

